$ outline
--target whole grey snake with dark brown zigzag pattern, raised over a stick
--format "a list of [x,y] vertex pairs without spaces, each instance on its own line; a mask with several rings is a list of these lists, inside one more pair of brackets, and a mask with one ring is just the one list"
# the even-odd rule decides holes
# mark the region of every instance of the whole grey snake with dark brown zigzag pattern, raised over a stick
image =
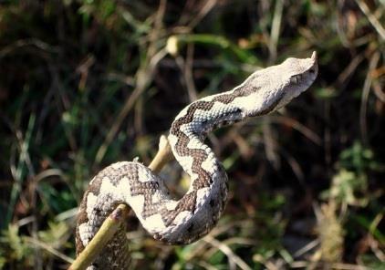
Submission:
[[[119,161],[89,182],[79,205],[77,254],[120,203],[126,203],[143,228],[166,244],[190,244],[208,234],[227,201],[224,166],[204,142],[217,128],[263,116],[284,107],[317,78],[317,53],[286,58],[256,70],[239,86],[193,101],[176,116],[167,137],[175,160],[190,176],[188,191],[174,199],[163,179],[139,161]],[[88,269],[129,269],[130,243],[122,225]]]

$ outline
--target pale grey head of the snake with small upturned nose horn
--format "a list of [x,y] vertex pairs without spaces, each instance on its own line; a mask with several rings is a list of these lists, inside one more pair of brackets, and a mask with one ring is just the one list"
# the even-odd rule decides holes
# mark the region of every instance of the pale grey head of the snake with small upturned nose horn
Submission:
[[309,58],[287,58],[283,63],[255,71],[234,89],[234,100],[244,117],[264,115],[284,107],[317,78],[317,53]]

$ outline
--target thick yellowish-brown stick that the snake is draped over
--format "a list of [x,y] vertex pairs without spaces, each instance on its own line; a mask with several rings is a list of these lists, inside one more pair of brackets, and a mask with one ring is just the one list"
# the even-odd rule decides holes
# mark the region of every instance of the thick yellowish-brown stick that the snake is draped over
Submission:
[[[154,159],[151,161],[149,168],[154,173],[161,171],[161,168],[172,161],[172,150],[169,141],[165,136],[161,136],[159,142],[159,151],[156,153]],[[101,225],[97,234],[89,242],[86,248],[81,254],[78,255],[72,265],[69,266],[68,270],[81,270],[86,269],[95,258],[102,251],[103,247],[109,242],[112,236],[118,231],[121,223],[125,220],[130,212],[130,208],[126,204],[120,204],[118,207],[109,215],[109,217]]]

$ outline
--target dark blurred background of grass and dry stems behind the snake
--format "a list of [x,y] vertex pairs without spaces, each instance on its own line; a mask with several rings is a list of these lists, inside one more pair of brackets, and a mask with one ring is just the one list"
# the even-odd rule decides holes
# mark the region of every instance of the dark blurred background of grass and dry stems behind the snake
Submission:
[[[210,135],[231,180],[213,232],[165,246],[132,217],[133,265],[384,269],[384,4],[0,1],[0,268],[68,267],[95,173],[148,164],[193,99],[317,50],[286,109]],[[162,171],[177,194],[180,171]]]

